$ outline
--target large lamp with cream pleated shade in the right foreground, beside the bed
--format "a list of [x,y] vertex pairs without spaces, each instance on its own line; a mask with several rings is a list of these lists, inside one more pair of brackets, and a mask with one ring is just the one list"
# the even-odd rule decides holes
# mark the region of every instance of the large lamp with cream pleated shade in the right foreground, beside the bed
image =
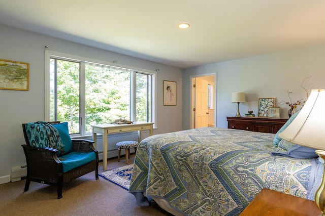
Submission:
[[[316,150],[316,154],[325,159],[325,89],[313,89],[308,100],[296,118],[279,137],[291,143]],[[315,194],[315,202],[325,216],[325,172]]]

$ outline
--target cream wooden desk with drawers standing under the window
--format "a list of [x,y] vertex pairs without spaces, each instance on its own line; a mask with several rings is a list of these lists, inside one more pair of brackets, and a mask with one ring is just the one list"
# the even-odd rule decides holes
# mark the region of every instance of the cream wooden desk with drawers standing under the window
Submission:
[[149,130],[150,136],[153,135],[154,122],[135,121],[133,124],[98,124],[92,126],[92,140],[95,142],[94,147],[97,147],[97,134],[103,135],[103,168],[107,169],[107,136],[109,134],[118,134],[125,132],[138,131],[138,142],[142,140],[141,132]]

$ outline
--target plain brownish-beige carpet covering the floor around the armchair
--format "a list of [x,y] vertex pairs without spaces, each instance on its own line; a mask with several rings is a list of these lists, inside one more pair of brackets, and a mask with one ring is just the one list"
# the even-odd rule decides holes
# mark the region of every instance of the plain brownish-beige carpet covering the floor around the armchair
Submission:
[[[129,163],[133,163],[131,155]],[[108,169],[125,165],[125,158],[108,161]],[[100,163],[99,172],[103,172]],[[0,185],[0,215],[171,215],[157,204],[137,205],[135,197],[123,188],[103,179],[95,180],[94,171],[63,185],[61,199],[56,187],[31,182],[23,192],[25,180]]]

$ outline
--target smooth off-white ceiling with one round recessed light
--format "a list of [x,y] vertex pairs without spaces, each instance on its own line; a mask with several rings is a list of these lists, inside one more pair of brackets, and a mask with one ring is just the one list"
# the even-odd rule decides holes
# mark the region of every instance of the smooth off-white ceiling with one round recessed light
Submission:
[[[0,23],[179,68],[325,43],[324,0],[0,0]],[[179,29],[181,22],[189,29]]]

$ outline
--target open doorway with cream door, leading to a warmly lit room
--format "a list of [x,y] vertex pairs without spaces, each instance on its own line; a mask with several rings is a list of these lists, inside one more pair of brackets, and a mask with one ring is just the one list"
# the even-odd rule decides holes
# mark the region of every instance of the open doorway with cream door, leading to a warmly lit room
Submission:
[[216,126],[216,73],[191,76],[191,128]]

